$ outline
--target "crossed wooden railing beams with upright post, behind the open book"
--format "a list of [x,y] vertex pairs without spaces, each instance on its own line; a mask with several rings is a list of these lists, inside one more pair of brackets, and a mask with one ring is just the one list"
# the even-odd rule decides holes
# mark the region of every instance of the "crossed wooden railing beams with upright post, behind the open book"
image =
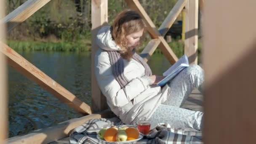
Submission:
[[190,63],[197,64],[198,0],[178,0],[159,29],[155,27],[155,24],[153,24],[138,0],[125,0],[125,2],[128,4],[129,8],[139,12],[141,16],[143,16],[146,21],[147,31],[152,38],[142,51],[141,56],[147,61],[152,53],[154,53],[157,46],[159,46],[171,64],[175,63],[178,58],[163,37],[168,32],[179,13],[181,13],[181,10],[185,7],[187,14],[185,21],[183,21],[186,24],[184,53],[189,56]]

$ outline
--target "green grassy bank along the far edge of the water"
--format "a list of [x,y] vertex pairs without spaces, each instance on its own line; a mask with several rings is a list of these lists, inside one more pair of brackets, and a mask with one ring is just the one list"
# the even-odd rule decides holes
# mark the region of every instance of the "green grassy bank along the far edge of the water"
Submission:
[[[77,52],[87,52],[91,51],[91,41],[77,41],[72,42],[42,42],[42,41],[16,41],[8,40],[7,44],[13,48],[15,51],[77,51]],[[179,58],[184,54],[184,43],[181,40],[173,40],[168,43],[172,48],[173,52]],[[147,41],[141,44],[138,50],[141,52],[143,48],[147,45]],[[200,61],[202,44],[198,43],[198,60]],[[155,50],[155,53],[162,53],[160,48]]]

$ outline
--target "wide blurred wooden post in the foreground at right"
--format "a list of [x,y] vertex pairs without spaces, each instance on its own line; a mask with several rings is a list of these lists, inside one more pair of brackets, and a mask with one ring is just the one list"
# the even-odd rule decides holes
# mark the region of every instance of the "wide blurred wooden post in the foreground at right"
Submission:
[[205,144],[255,144],[255,5],[255,0],[205,1]]

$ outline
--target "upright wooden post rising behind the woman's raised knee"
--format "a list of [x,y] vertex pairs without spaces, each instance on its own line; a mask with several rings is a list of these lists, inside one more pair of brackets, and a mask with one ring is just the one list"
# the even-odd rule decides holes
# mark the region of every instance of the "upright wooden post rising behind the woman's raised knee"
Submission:
[[197,64],[198,0],[188,0],[185,11],[184,53],[189,57],[190,64]]

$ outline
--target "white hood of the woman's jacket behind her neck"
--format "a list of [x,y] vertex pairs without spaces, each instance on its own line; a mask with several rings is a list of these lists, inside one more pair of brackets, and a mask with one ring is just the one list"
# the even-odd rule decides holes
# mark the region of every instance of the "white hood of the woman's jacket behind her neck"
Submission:
[[110,33],[110,27],[102,27],[96,38],[96,43],[99,45],[99,47],[105,51],[120,51],[121,48],[115,43],[113,40],[111,33]]

